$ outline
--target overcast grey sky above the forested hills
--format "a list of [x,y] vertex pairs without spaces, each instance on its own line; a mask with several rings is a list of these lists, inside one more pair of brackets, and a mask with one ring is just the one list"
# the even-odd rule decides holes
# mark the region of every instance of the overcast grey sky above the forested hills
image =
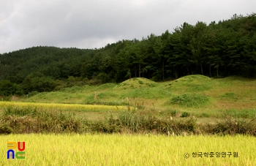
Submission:
[[33,46],[101,48],[197,20],[256,12],[255,0],[0,0],[0,53]]

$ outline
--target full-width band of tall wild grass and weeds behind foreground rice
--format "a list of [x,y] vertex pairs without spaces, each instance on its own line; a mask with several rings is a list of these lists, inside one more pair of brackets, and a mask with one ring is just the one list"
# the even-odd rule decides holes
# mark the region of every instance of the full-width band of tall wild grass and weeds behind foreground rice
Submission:
[[[62,105],[64,107],[64,105]],[[83,110],[87,111],[87,110]],[[97,110],[96,110],[97,111]],[[133,133],[164,135],[253,135],[256,118],[225,116],[217,123],[196,123],[196,118],[155,116],[141,109],[101,112],[104,119],[89,120],[71,110],[46,107],[4,107],[0,114],[0,135],[29,133]],[[78,112],[76,112],[78,113]],[[170,115],[170,114],[169,114]],[[173,114],[173,116],[176,116]]]

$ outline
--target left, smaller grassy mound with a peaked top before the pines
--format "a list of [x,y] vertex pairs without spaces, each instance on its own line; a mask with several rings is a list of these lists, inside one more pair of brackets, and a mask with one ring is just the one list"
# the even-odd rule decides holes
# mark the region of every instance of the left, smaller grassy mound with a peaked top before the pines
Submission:
[[125,80],[122,83],[116,85],[113,89],[122,90],[129,88],[151,88],[156,87],[158,84],[152,80],[148,80],[147,78],[131,78],[129,80]]

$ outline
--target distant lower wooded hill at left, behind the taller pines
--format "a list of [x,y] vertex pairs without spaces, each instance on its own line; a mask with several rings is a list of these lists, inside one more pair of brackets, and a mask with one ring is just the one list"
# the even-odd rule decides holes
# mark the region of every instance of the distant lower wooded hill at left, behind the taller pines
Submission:
[[0,55],[0,80],[22,83],[27,75],[40,72],[54,79],[80,77],[78,70],[91,50],[33,47]]

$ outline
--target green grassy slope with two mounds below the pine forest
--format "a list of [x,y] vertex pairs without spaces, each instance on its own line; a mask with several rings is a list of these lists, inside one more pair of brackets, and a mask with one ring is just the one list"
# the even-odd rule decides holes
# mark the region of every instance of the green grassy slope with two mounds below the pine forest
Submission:
[[75,86],[18,99],[23,102],[56,102],[104,105],[140,105],[145,110],[178,110],[215,115],[219,111],[256,113],[256,80],[228,77],[211,79],[188,75],[156,83],[132,78],[101,86]]

